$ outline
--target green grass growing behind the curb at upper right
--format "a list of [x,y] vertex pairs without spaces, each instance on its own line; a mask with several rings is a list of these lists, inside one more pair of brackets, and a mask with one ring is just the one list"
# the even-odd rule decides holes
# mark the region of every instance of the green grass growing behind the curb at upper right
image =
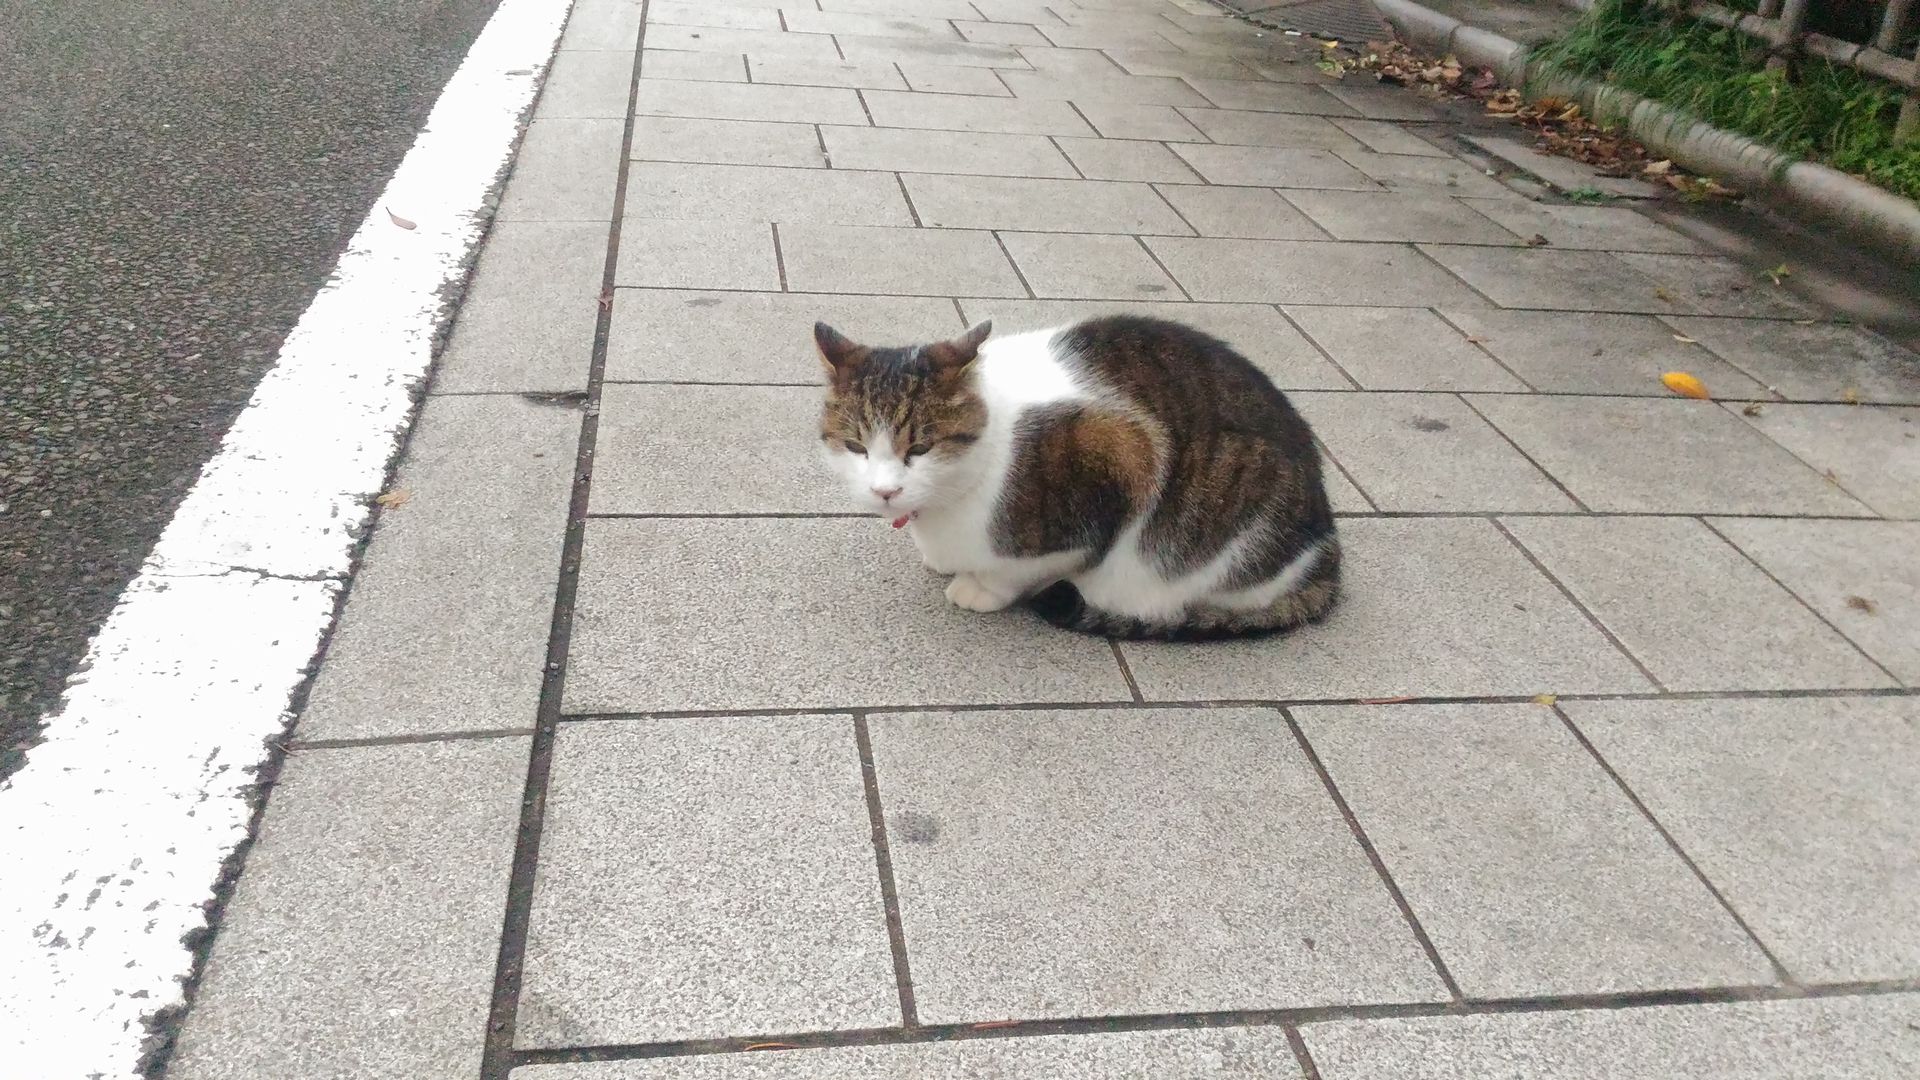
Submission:
[[1893,144],[1899,92],[1847,67],[1807,58],[1791,77],[1766,71],[1757,42],[1659,0],[1599,0],[1534,58],[1920,200],[1920,146]]

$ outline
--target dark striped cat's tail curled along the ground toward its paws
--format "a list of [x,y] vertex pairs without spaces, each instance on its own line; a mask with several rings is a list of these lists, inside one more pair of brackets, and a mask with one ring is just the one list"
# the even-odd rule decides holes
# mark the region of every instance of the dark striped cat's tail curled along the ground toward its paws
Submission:
[[1121,640],[1212,642],[1221,638],[1284,634],[1286,630],[1325,619],[1338,598],[1340,548],[1336,542],[1329,542],[1308,580],[1281,594],[1265,607],[1233,609],[1196,605],[1179,621],[1160,623],[1092,607],[1073,588],[1073,582],[1064,580],[1031,596],[1027,607],[1054,626],[1079,630],[1081,634]]

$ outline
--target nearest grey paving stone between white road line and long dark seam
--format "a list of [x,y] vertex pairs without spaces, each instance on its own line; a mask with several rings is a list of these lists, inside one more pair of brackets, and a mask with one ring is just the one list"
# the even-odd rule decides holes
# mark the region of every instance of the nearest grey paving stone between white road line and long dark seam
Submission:
[[167,1072],[478,1076],[526,753],[288,755]]

